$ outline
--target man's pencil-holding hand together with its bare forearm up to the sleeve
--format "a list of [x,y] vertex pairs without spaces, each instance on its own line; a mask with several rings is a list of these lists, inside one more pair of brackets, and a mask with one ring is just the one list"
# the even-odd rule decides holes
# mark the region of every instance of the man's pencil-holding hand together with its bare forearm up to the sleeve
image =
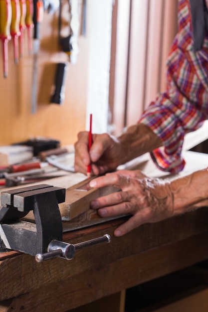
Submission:
[[93,134],[93,144],[88,151],[87,131],[78,134],[75,143],[75,171],[87,172],[92,163],[92,174],[99,175],[114,171],[120,164],[126,163],[144,153],[151,152],[162,145],[154,132],[143,124],[129,127],[119,137],[109,134]]

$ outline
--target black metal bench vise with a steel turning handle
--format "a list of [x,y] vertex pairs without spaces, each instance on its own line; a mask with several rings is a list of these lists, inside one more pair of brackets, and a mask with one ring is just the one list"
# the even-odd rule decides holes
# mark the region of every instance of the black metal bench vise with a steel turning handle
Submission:
[[[48,184],[1,192],[0,251],[12,249],[36,255],[37,262],[56,257],[70,260],[75,250],[110,242],[108,234],[78,244],[63,242],[58,204],[64,201],[65,188]],[[35,224],[21,220],[30,210]]]

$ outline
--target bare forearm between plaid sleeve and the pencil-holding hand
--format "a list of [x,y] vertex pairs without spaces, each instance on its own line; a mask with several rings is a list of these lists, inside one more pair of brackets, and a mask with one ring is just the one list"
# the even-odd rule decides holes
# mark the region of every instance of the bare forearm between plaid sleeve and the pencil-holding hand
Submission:
[[122,163],[162,146],[162,142],[156,134],[143,124],[129,127],[118,137],[118,140],[122,143],[125,151]]

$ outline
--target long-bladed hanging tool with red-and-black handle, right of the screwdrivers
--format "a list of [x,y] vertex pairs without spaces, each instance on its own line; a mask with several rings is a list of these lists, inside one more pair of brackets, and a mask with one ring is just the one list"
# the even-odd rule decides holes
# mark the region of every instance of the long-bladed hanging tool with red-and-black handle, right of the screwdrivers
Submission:
[[32,92],[31,92],[31,113],[35,114],[37,105],[37,57],[40,45],[40,24],[43,21],[43,1],[33,0],[33,77],[32,77]]

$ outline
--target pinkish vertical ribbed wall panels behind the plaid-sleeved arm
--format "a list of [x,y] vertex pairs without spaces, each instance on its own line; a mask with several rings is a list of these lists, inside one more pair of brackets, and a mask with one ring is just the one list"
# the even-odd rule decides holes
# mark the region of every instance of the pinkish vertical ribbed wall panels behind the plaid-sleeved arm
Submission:
[[114,134],[137,123],[165,90],[166,59],[177,33],[178,0],[116,0],[110,109]]

